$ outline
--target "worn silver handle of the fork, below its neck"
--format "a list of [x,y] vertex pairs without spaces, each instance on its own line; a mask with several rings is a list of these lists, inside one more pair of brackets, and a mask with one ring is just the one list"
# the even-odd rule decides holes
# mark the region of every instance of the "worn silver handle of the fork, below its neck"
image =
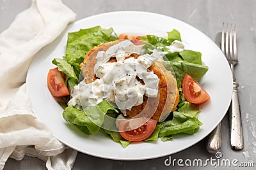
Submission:
[[239,87],[239,84],[233,81],[232,102],[229,108],[230,145],[235,150],[242,150],[244,141],[237,87]]

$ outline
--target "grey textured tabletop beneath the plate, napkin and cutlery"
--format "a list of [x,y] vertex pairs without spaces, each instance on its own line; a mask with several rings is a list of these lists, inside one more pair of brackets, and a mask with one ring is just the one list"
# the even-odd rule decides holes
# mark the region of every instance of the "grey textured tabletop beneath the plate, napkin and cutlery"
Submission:
[[[15,18],[15,15],[29,8],[31,0],[0,1],[0,32],[4,31]],[[139,10],[161,13],[177,18],[193,25],[204,32],[209,38],[215,39],[216,32],[221,31],[222,22],[236,22],[238,39],[239,65],[236,67],[237,81],[240,83],[239,97],[244,131],[244,149],[234,151],[230,148],[228,119],[222,121],[223,145],[221,159],[237,159],[237,165],[254,162],[254,167],[218,166],[208,164],[207,167],[175,167],[166,166],[164,160],[169,156],[152,160],[119,161],[92,157],[78,153],[74,169],[255,169],[256,167],[256,1],[247,0],[63,0],[76,14],[76,20],[98,13],[120,10]],[[216,159],[215,155],[205,150],[205,139],[190,148],[175,153],[172,159]],[[236,163],[236,162],[235,162]],[[248,164],[247,164],[248,165]],[[45,169],[45,163],[33,157],[25,157],[21,161],[8,159],[4,169]]]

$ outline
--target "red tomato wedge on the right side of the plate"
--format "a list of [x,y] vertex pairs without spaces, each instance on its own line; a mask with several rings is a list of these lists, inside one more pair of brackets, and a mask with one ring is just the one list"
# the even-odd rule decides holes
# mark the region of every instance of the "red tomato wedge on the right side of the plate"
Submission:
[[189,74],[186,74],[183,78],[182,91],[187,101],[194,104],[204,103],[211,98],[205,89]]

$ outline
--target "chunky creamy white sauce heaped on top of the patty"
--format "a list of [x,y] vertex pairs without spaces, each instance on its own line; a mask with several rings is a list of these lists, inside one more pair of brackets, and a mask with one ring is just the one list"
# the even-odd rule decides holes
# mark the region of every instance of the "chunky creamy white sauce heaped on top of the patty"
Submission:
[[[125,59],[132,53],[140,56],[138,59]],[[108,99],[120,110],[131,110],[132,106],[143,103],[143,95],[157,97],[159,78],[147,69],[156,60],[163,60],[163,53],[157,49],[151,54],[141,53],[142,46],[134,45],[129,40],[111,46],[106,52],[98,52],[94,68],[98,79],[88,84],[83,80],[76,85],[68,105],[81,109]],[[108,62],[111,57],[117,61]]]

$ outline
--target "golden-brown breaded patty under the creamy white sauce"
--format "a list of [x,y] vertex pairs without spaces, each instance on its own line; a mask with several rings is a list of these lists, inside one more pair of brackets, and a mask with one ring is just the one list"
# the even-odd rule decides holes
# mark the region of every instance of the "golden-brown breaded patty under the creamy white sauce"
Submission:
[[[81,70],[83,77],[86,78],[86,83],[92,83],[97,79],[94,74],[94,67],[97,63],[96,56],[100,51],[106,52],[112,45],[117,44],[119,41],[112,41],[109,43],[95,46],[87,53],[83,63],[81,63]],[[131,54],[129,57],[138,58],[138,54]],[[126,57],[125,59],[129,58]],[[115,58],[111,58],[108,62],[116,62]],[[176,110],[179,103],[179,91],[177,83],[172,73],[168,71],[162,62],[155,62],[148,71],[153,71],[159,78],[159,90],[157,97],[143,96],[143,103],[138,106],[132,106],[131,110],[125,110],[127,117],[150,117],[158,122],[163,121],[171,111]],[[142,80],[140,80],[143,83]]]

